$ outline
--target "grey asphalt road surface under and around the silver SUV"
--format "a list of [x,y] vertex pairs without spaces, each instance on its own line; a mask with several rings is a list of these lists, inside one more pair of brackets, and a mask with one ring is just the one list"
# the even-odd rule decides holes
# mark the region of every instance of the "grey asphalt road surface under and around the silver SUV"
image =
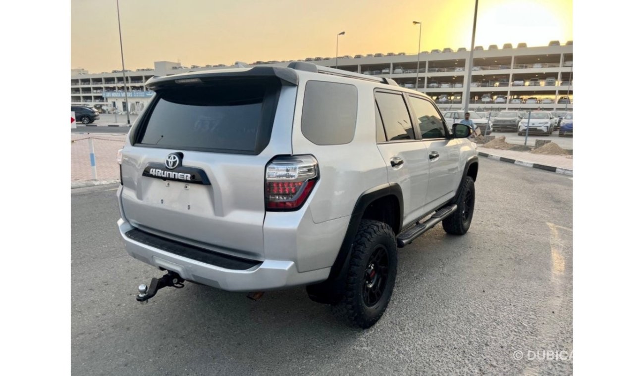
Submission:
[[303,288],[251,301],[187,283],[140,305],[138,284],[163,273],[124,251],[115,188],[71,192],[73,375],[573,371],[544,353],[573,350],[570,177],[482,158],[468,234],[437,226],[399,249],[392,301],[368,330]]

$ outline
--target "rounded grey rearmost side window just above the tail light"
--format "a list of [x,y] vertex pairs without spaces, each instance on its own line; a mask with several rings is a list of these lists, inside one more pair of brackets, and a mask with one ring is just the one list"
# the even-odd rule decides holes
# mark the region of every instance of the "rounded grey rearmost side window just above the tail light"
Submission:
[[302,106],[302,134],[317,145],[350,143],[355,134],[358,91],[354,85],[309,81]]

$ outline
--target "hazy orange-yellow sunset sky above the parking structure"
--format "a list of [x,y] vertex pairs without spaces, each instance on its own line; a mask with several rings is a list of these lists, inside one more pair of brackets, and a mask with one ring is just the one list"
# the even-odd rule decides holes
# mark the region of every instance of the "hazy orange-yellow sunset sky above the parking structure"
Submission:
[[[120,0],[126,69],[469,49],[474,0]],[[480,0],[475,44],[573,40],[572,0]],[[71,67],[120,69],[116,0],[71,0]]]

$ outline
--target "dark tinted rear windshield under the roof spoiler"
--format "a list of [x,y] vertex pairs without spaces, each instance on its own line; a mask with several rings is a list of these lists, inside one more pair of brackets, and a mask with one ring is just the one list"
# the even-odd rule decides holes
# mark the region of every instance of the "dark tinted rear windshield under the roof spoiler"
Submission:
[[259,154],[270,139],[278,89],[276,79],[160,89],[137,144]]

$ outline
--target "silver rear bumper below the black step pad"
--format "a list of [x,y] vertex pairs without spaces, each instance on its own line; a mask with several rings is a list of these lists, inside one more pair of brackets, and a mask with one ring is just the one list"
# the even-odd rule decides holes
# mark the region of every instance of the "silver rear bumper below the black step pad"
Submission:
[[135,240],[126,233],[135,228],[118,220],[118,231],[126,242],[129,255],[146,264],[174,271],[189,281],[227,291],[266,291],[321,282],[328,278],[330,267],[299,273],[296,264],[286,260],[264,260],[249,269],[226,269],[194,260]]

